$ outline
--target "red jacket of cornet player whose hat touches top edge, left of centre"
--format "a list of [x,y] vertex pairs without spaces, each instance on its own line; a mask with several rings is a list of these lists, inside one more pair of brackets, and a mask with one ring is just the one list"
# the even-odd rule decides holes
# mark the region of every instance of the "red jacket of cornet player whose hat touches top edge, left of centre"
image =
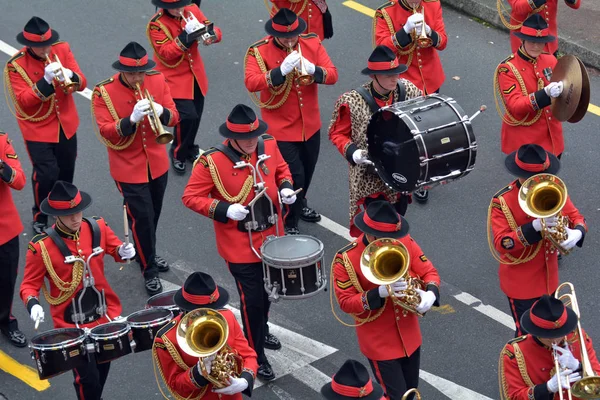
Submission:
[[[210,22],[195,4],[186,6],[184,12],[186,18],[192,13],[200,23]],[[208,79],[198,50],[198,42],[187,43],[183,36],[186,35],[184,28],[185,21],[181,17],[174,17],[167,11],[160,10],[148,23],[146,34],[154,49],[156,69],[165,75],[173,98],[192,100],[194,80],[206,96]],[[221,41],[221,29],[215,27],[214,31],[217,36],[216,42]]]

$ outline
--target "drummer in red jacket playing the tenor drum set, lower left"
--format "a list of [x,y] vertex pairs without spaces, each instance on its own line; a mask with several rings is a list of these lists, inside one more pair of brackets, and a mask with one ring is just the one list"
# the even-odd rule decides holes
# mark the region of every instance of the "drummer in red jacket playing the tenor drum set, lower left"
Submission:
[[[29,243],[25,259],[25,272],[21,283],[21,299],[27,306],[31,319],[44,321],[44,309],[40,305],[40,290],[50,304],[50,314],[54,328],[93,328],[109,322],[121,314],[121,302],[104,276],[103,255],[110,255],[116,262],[135,256],[132,244],[125,244],[100,217],[83,218],[83,210],[89,207],[92,199],[71,183],[57,181],[40,205],[46,215],[56,217],[56,223],[45,233],[35,236]],[[90,259],[89,267],[94,285],[99,292],[104,291],[107,310],[105,315],[97,313],[99,304],[92,290],[86,290],[82,299],[82,310],[74,310],[72,300],[83,293],[84,263],[67,263],[66,257],[87,260],[92,249],[99,243],[104,253]],[[44,284],[44,278],[48,285]],[[49,289],[48,289],[49,288]],[[75,321],[76,314],[84,314],[83,321]],[[73,370],[75,392],[79,400],[100,400],[110,363],[96,364],[94,354],[90,362]]]

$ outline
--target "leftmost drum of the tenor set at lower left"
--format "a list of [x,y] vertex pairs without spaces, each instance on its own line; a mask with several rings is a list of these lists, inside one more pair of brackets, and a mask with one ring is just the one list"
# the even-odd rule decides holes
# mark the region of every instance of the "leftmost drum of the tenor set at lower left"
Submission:
[[40,379],[48,379],[88,363],[83,329],[62,328],[40,333],[29,348]]

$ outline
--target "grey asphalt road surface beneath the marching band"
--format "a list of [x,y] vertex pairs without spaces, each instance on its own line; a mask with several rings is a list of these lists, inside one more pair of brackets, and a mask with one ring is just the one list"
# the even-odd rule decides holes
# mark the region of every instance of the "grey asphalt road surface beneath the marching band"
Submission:
[[[109,3],[110,7],[107,7]],[[114,73],[110,64],[127,42],[136,40],[148,47],[145,26],[154,7],[142,0],[109,3],[63,0],[60,7],[56,7],[56,2],[40,0],[36,2],[33,11],[28,3],[9,2],[4,5],[4,11],[0,15],[0,40],[19,48],[15,35],[21,31],[25,22],[32,14],[43,17],[71,44],[80,67],[90,82],[89,87],[92,87],[93,83]],[[243,57],[247,46],[265,36],[263,26],[268,18],[261,1],[252,3],[250,5],[250,2],[233,0],[203,2],[206,15],[224,33],[222,43],[201,49],[211,87],[197,140],[203,148],[220,142],[217,128],[235,104],[251,104],[243,85]],[[327,140],[326,128],[337,97],[365,80],[360,75],[360,70],[371,51],[371,21],[341,2],[330,3],[335,36],[326,41],[325,45],[338,67],[340,79],[335,86],[322,87],[320,90],[323,143],[309,201],[323,215],[346,226],[346,161]],[[362,0],[362,4],[376,8],[379,0]],[[480,394],[470,398],[487,396],[494,399],[498,398],[498,354],[503,344],[512,337],[512,331],[498,322],[498,319],[475,310],[474,306],[481,306],[479,301],[466,301],[467,304],[473,303],[468,306],[465,301],[460,302],[454,296],[465,299],[466,295],[460,293],[466,292],[480,299],[483,304],[508,312],[508,302],[498,285],[497,264],[487,247],[486,214],[491,196],[511,180],[503,169],[500,118],[495,111],[492,92],[494,68],[509,54],[510,46],[505,33],[486,28],[451,10],[445,10],[445,23],[449,44],[442,52],[446,82],[441,92],[454,97],[468,114],[474,113],[482,104],[488,106],[488,111],[474,121],[479,144],[475,171],[459,182],[432,190],[427,205],[413,204],[407,213],[411,234],[442,277],[442,301],[446,305],[442,312],[431,312],[422,320],[422,369]],[[6,54],[0,54],[0,62],[4,63],[8,59]],[[592,102],[600,104],[600,79],[592,75]],[[455,80],[453,77],[460,79]],[[88,214],[105,217],[110,225],[116,227],[116,232],[122,235],[122,200],[108,172],[106,151],[94,136],[89,101],[76,96],[76,103],[81,123],[78,130],[75,183],[94,198]],[[29,175],[31,164],[16,120],[4,102],[0,103],[0,121],[0,128],[14,140],[23,167]],[[571,281],[576,285],[583,326],[592,338],[600,337],[597,280],[594,278],[595,261],[599,256],[599,239],[596,235],[596,227],[600,224],[600,207],[597,204],[600,164],[597,162],[596,139],[599,122],[598,116],[588,114],[576,125],[565,125],[567,150],[561,171],[572,199],[587,217],[591,230],[583,249],[563,260],[561,280]],[[209,272],[220,285],[230,290],[232,306],[238,306],[234,281],[215,250],[211,221],[195,215],[181,203],[188,177],[189,172],[183,177],[170,173],[158,230],[158,249],[175,268],[162,278],[179,285],[190,271]],[[32,235],[28,228],[32,202],[29,182],[25,190],[13,193],[13,196],[26,225],[21,238],[23,265],[26,242]],[[322,226],[302,223],[300,229],[323,241],[327,265],[336,250],[346,243],[345,239]],[[124,314],[142,309],[147,296],[137,265],[131,264],[120,269],[107,259],[106,269],[109,281],[121,297]],[[20,275],[22,276],[22,272]],[[18,299],[14,313],[22,330],[28,337],[32,337],[33,326]],[[333,354],[312,362],[312,366],[320,373],[331,376],[347,358],[366,362],[358,351],[354,330],[343,327],[333,318],[329,292],[302,301],[280,302],[272,307],[271,321],[337,349]],[[45,323],[40,329],[50,328],[50,324]],[[298,340],[297,343],[284,342],[284,346],[296,346],[302,350],[302,346],[313,343],[307,339]],[[4,339],[0,339],[0,349],[20,363],[34,365],[26,349],[15,349]],[[277,373],[277,368],[283,368],[286,360],[281,356],[271,357],[278,360],[275,363]],[[322,374],[320,376],[323,379]],[[431,378],[432,375],[427,376],[429,383],[422,381],[420,388],[424,398],[461,398],[442,394],[440,390],[448,390],[452,385],[435,377]],[[291,373],[276,380],[274,384],[257,389],[253,397],[267,400],[316,399],[319,395],[311,387],[315,387],[317,381],[318,379],[307,379]],[[11,400],[75,398],[69,373],[52,379],[51,387],[46,391],[37,392],[15,377],[0,372],[0,392]],[[111,367],[104,398],[126,399],[134,396],[161,398],[155,384],[149,352],[126,356],[114,362]],[[462,398],[467,398],[464,396],[466,395]]]

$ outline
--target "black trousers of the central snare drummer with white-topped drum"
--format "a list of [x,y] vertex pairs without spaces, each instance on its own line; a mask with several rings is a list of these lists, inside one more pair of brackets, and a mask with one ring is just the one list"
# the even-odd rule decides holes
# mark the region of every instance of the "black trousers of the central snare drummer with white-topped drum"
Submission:
[[237,264],[228,262],[229,271],[235,278],[240,295],[244,335],[254,349],[261,364],[265,356],[265,335],[268,333],[269,308],[271,302],[264,288],[261,262]]

